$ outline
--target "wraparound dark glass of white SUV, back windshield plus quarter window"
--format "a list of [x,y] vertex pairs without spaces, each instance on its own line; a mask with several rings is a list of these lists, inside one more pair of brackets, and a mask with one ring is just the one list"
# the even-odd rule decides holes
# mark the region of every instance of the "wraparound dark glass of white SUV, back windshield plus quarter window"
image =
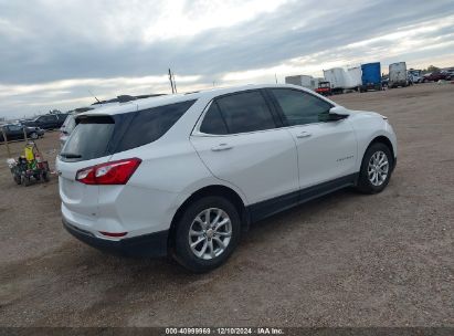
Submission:
[[112,116],[78,116],[60,156],[62,160],[91,160],[152,143],[167,133],[194,102]]

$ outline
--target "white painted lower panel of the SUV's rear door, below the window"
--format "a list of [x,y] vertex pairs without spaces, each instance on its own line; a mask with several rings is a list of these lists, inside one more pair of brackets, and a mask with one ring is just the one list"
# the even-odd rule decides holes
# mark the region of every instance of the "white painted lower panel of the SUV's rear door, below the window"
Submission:
[[[298,190],[295,143],[286,129],[191,136],[191,141],[213,176],[241,189],[247,203]],[[221,144],[232,148],[212,150]]]

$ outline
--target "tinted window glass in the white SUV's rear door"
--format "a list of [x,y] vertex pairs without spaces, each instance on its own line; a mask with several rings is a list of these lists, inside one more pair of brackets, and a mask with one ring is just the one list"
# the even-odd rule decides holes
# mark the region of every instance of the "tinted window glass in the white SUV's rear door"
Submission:
[[271,129],[273,115],[257,91],[239,93],[215,101],[230,134]]

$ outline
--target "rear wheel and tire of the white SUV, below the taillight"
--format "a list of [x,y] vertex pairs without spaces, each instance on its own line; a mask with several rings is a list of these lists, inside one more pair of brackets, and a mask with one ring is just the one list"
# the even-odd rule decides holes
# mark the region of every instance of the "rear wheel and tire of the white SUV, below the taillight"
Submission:
[[223,264],[240,241],[236,208],[225,198],[204,197],[191,203],[175,230],[175,259],[194,273]]

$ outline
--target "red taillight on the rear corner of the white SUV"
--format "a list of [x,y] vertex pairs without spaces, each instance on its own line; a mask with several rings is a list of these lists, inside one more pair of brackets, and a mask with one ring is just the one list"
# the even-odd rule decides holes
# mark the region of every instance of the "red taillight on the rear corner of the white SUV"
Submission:
[[126,185],[139,167],[138,158],[110,161],[77,171],[76,181],[85,185]]

